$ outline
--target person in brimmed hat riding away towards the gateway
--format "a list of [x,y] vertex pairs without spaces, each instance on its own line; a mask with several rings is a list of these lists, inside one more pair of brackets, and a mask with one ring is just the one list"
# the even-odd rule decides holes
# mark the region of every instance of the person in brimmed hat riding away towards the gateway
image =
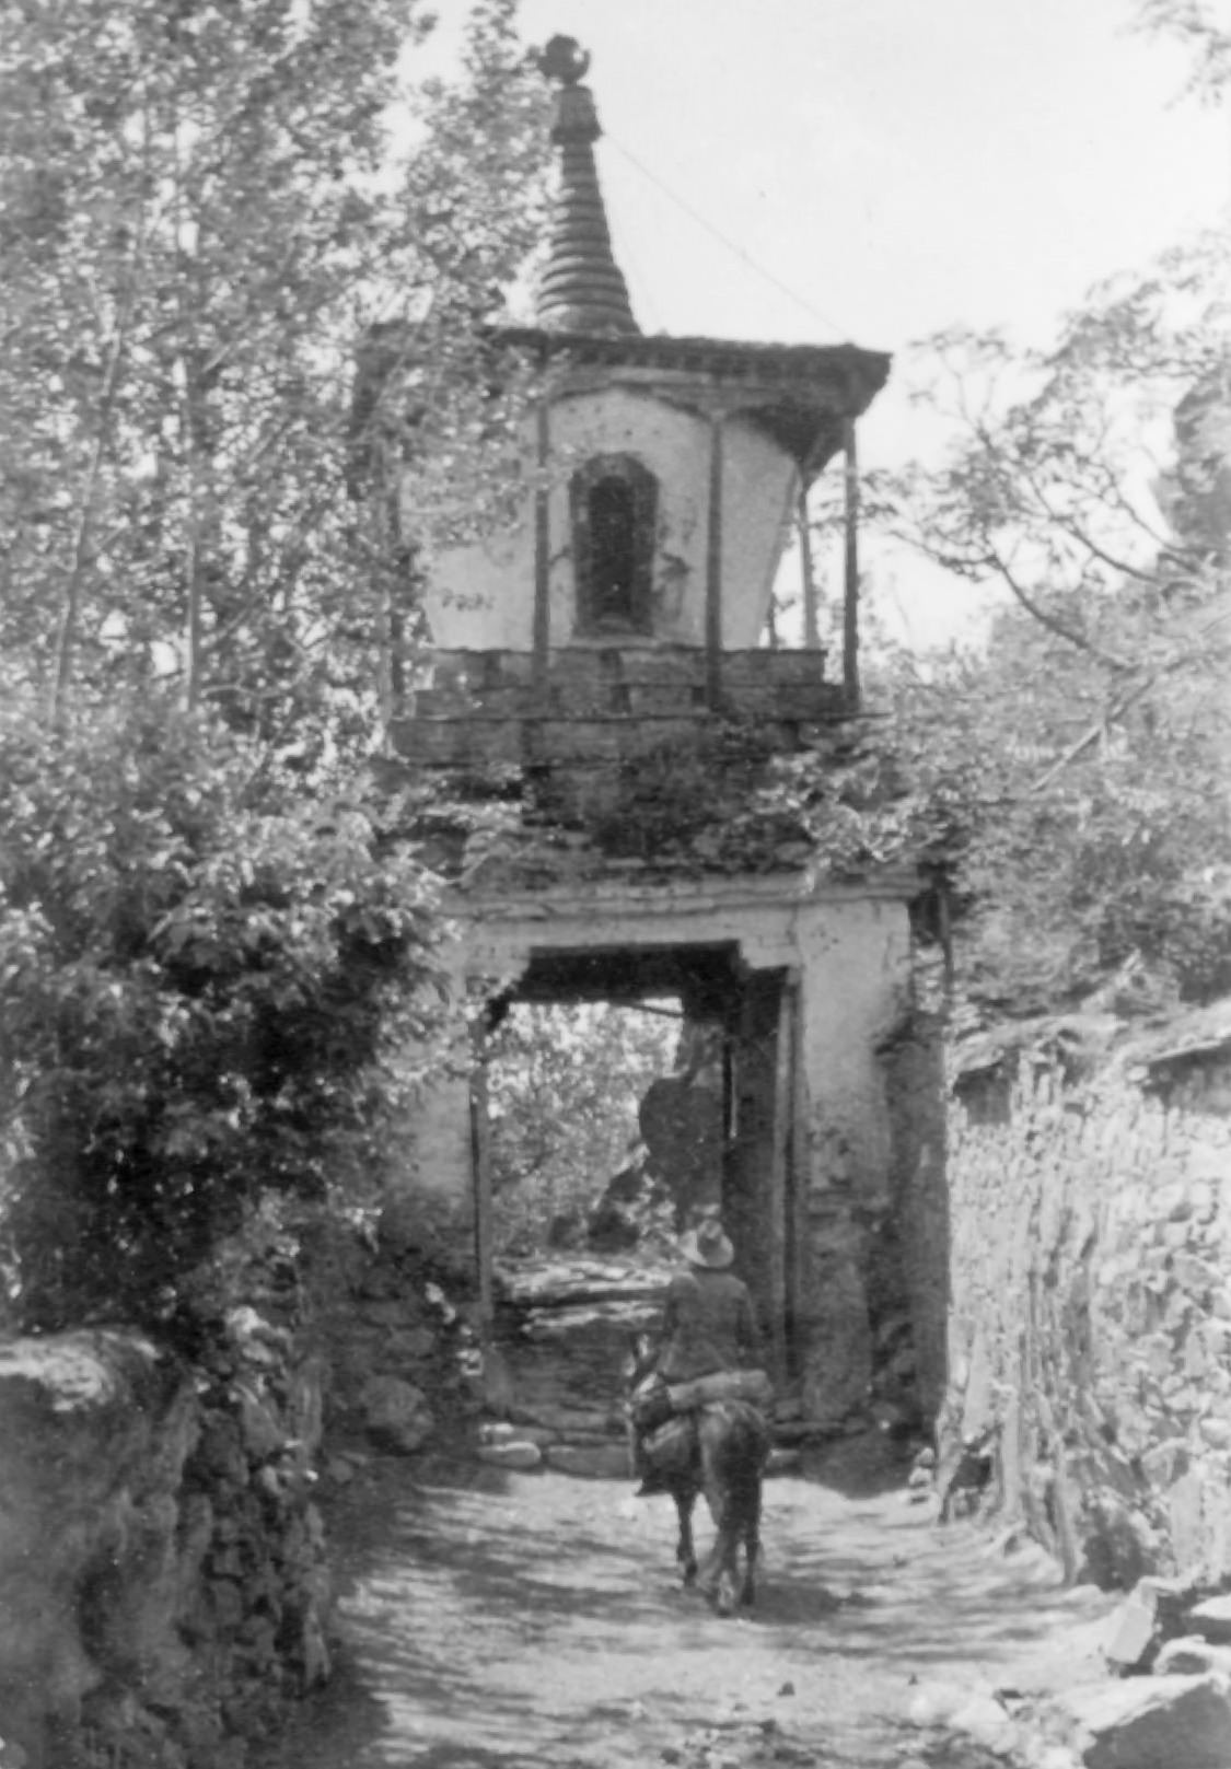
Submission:
[[[748,1286],[734,1275],[736,1251],[716,1215],[704,1217],[679,1238],[686,1270],[672,1277],[663,1306],[661,1344],[654,1360],[660,1392],[757,1364],[757,1327]],[[633,1459],[642,1484],[637,1497],[665,1491],[646,1447],[653,1408],[633,1408]],[[658,1419],[661,1422],[661,1415]]]

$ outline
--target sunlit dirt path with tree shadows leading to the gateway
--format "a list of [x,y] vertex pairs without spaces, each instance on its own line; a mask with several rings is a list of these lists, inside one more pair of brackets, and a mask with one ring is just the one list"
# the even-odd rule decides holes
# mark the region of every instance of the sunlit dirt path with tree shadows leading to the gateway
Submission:
[[669,1500],[405,1468],[347,1495],[338,1675],[271,1769],[884,1769],[913,1679],[1074,1681],[1107,1608],[897,1491],[782,1479],[755,1617],[720,1620],[676,1585]]

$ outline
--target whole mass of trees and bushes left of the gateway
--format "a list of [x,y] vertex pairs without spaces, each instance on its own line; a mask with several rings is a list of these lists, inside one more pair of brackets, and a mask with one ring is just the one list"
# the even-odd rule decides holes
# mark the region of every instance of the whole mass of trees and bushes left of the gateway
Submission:
[[244,1201],[378,1173],[414,1079],[432,881],[364,766],[423,561],[509,483],[485,322],[547,159],[513,12],[478,0],[456,76],[403,90],[419,0],[0,0],[0,1233],[30,1325],[173,1321]]

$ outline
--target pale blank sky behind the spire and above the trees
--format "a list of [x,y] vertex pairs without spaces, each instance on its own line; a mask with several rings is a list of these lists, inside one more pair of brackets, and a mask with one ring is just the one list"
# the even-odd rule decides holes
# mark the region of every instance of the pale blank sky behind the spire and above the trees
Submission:
[[[446,28],[462,11],[446,0]],[[1178,99],[1183,57],[1127,32],[1132,0],[522,0],[520,16],[531,42],[591,50],[644,331],[902,350],[962,322],[1042,343],[1098,278],[1231,216],[1231,113]],[[893,384],[863,432],[865,458],[902,453]]]

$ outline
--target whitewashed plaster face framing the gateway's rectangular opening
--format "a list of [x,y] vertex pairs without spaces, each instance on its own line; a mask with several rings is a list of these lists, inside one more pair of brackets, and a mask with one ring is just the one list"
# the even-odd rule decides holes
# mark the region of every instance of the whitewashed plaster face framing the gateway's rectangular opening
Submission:
[[[534,950],[727,941],[753,969],[798,973],[805,1408],[837,1422],[865,1405],[874,1350],[867,1270],[893,1210],[897,1159],[881,1047],[911,999],[904,893],[833,888],[805,897],[798,877],[605,886],[472,902],[469,916],[458,916],[456,961],[472,976],[516,978]],[[469,1137],[465,1090],[442,1084],[405,1168],[407,1192],[421,1191],[432,1206],[451,1196],[458,1222],[469,1221]]]

